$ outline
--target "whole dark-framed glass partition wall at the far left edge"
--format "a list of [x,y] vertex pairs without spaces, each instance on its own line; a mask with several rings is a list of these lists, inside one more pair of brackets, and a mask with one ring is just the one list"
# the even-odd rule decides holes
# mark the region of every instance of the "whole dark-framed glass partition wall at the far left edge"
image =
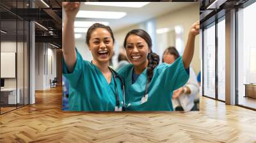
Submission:
[[[29,7],[28,0],[0,1],[0,4],[8,6],[13,13],[24,12],[15,8]],[[0,8],[0,114],[29,103],[29,22],[13,13]]]

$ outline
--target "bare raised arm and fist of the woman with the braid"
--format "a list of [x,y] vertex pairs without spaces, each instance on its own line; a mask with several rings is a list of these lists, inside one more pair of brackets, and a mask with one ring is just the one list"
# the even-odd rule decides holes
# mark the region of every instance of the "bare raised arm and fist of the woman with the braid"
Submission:
[[186,47],[184,50],[184,54],[182,56],[184,68],[189,68],[189,65],[192,61],[194,50],[195,50],[195,36],[199,34],[200,31],[200,23],[195,22],[195,24],[192,25],[189,35],[188,35],[188,41],[186,43]]

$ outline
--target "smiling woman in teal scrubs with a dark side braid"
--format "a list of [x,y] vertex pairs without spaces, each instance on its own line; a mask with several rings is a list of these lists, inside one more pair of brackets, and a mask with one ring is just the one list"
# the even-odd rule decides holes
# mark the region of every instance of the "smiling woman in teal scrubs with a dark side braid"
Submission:
[[189,31],[184,55],[173,64],[159,64],[159,56],[152,51],[152,40],[146,31],[133,29],[127,33],[124,47],[132,64],[118,71],[125,84],[125,110],[173,110],[172,94],[167,93],[188,81],[197,34],[199,22]]

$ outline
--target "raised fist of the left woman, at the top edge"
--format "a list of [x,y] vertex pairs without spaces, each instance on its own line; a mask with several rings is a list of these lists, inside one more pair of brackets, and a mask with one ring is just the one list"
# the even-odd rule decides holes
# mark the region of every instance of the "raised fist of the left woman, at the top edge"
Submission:
[[79,11],[80,2],[63,2],[62,6],[65,10],[66,18],[75,20],[76,14]]

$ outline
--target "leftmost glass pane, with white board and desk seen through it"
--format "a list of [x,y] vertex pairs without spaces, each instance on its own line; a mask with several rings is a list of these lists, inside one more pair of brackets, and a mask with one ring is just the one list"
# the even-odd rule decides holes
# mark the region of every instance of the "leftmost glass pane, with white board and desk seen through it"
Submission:
[[17,96],[16,57],[17,57],[17,22],[1,21],[1,113],[16,109]]

